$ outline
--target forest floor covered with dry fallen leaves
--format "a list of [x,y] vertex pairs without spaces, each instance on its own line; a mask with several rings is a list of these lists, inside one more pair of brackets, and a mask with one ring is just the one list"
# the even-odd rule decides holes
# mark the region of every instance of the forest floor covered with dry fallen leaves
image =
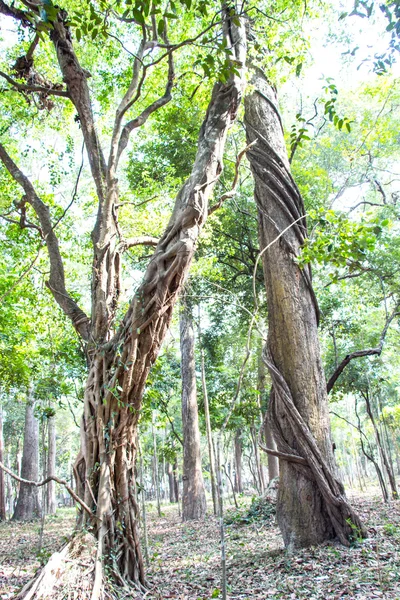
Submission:
[[[400,501],[384,505],[376,494],[358,493],[352,502],[368,539],[351,548],[329,543],[292,555],[283,549],[274,507],[250,502],[240,499],[238,510],[227,510],[229,600],[400,600]],[[164,505],[161,518],[154,506],[148,509],[151,587],[146,600],[220,598],[217,520],[210,516],[205,522],[182,523],[176,505]],[[13,597],[73,524],[72,509],[48,517],[38,553],[38,523],[0,523],[0,600]]]

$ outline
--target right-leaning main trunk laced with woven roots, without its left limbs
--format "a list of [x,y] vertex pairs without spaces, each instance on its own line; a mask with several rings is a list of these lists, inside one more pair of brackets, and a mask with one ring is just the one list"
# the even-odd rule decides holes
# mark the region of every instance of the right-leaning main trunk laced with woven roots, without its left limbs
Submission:
[[[235,35],[235,54],[244,62],[243,28]],[[240,76],[214,87],[192,173],[177,196],[143,283],[114,338],[89,348],[82,448],[75,473],[85,503],[95,511],[100,559],[96,582],[101,581],[102,559],[108,556],[120,583],[145,584],[133,495],[134,440],[142,396],[207,218],[208,200],[222,169],[225,140],[243,85],[241,70]],[[109,260],[117,260],[117,256]],[[87,513],[83,516],[84,522],[93,521]]]

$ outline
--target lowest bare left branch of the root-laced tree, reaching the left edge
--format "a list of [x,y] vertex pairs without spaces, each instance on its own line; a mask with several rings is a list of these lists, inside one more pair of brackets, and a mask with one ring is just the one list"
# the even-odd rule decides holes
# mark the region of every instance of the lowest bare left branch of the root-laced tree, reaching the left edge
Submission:
[[28,202],[35,211],[46,241],[50,259],[50,277],[46,282],[56,302],[64,313],[71,319],[72,324],[84,340],[89,339],[89,318],[77,305],[75,300],[67,293],[65,288],[64,265],[61,258],[57,236],[51,224],[50,209],[36,194],[35,188],[24,173],[0,144],[0,160],[10,173],[11,177],[22,187],[25,192],[24,201]]

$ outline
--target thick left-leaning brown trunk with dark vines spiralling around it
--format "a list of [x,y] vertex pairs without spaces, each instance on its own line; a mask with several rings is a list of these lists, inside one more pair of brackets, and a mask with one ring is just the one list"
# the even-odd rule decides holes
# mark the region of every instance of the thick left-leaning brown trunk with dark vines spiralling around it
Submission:
[[311,272],[295,262],[306,237],[303,202],[290,174],[276,95],[259,71],[253,84],[245,123],[248,142],[257,140],[248,157],[268,301],[269,414],[281,453],[278,523],[289,548],[335,535],[348,544],[361,522],[337,480]]

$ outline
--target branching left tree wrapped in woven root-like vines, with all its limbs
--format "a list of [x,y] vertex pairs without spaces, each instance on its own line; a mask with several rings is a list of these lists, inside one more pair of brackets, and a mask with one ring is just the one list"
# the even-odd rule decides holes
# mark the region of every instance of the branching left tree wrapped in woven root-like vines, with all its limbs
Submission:
[[[128,13],[130,10],[128,8]],[[24,69],[28,69],[29,76],[34,77],[30,70],[32,53],[40,36],[34,38],[19,63],[25,65],[18,73],[19,81],[11,77],[6,79],[14,89],[38,94],[42,103],[47,101],[48,96],[66,98],[72,102],[78,114],[98,205],[91,235],[93,269],[91,310],[88,316],[68,293],[56,223],[49,205],[12,158],[12,151],[7,150],[4,143],[0,145],[0,159],[5,169],[24,192],[16,210],[22,222],[26,211],[32,211],[37,219],[36,229],[47,247],[50,262],[47,287],[85,345],[88,379],[82,422],[83,444],[75,470],[82,498],[81,522],[93,526],[97,538],[98,560],[92,596],[96,598],[103,586],[102,563],[105,557],[108,557],[110,568],[120,584],[132,582],[140,587],[145,583],[136,527],[136,503],[132,495],[137,423],[147,375],[166,335],[173,306],[208,215],[210,194],[222,171],[226,136],[235,120],[244,85],[244,24],[224,7],[224,70],[212,91],[190,177],[177,195],[164,234],[158,241],[148,236],[127,240],[121,235],[117,218],[120,201],[117,169],[131,132],[171,99],[175,78],[173,53],[180,44],[170,45],[168,42],[168,17],[164,15],[161,18],[161,25],[156,31],[151,25],[152,19],[148,18],[150,3],[144,3],[142,11],[137,12],[135,7],[132,9],[130,19],[126,19],[126,15],[120,19],[133,23],[132,27],[142,36],[133,64],[130,65],[132,75],[128,87],[116,109],[106,160],[93,111],[89,73],[78,58],[67,13],[51,4],[47,9],[30,4],[28,9],[18,9],[4,2],[0,3],[0,11],[22,27],[41,28],[49,33],[52,52],[57,57],[57,68],[66,90],[60,89],[60,84],[43,86],[21,82]],[[42,19],[43,11],[45,20]],[[97,18],[95,14],[94,21]],[[146,19],[149,25],[144,24]],[[213,27],[214,22],[211,25],[208,23],[208,26]],[[154,49],[158,57],[154,60],[151,57],[146,64],[145,53]],[[130,109],[138,99],[141,100],[147,71],[163,58],[168,62],[164,93],[148,106],[142,106],[136,118],[129,118]],[[32,79],[28,77],[28,81]],[[115,325],[121,257],[125,250],[138,244],[156,244],[156,249],[142,284],[136,290],[125,315]],[[111,553],[115,548],[118,548],[116,556]]]

